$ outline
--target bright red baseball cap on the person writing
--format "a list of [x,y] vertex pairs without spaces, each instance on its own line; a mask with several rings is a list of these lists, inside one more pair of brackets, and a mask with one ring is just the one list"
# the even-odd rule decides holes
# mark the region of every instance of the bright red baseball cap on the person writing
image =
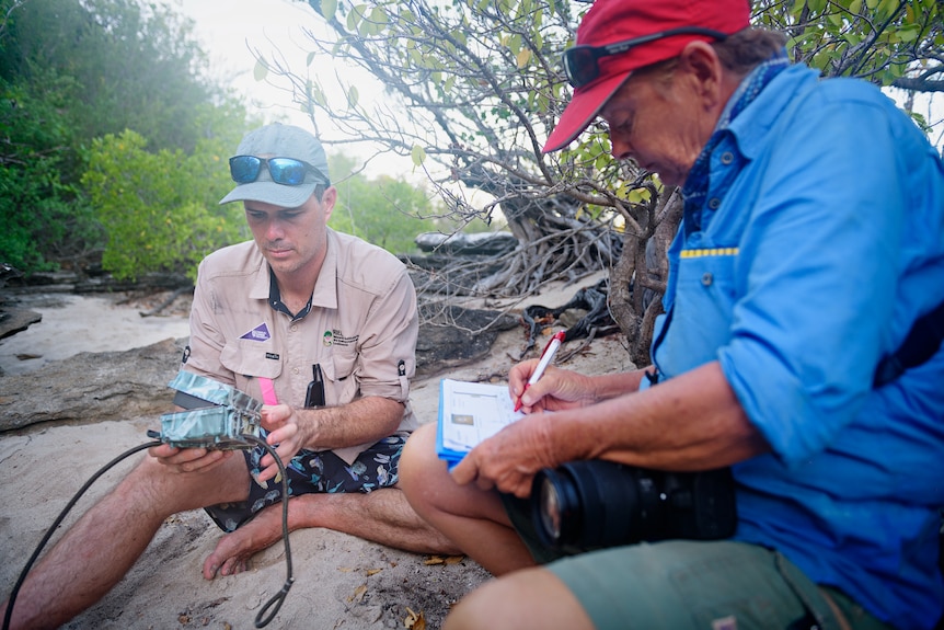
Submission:
[[654,38],[597,60],[600,76],[574,90],[543,152],[563,149],[579,136],[633,70],[678,56],[689,42],[716,39],[692,33],[660,37],[660,33],[698,26],[730,35],[749,25],[748,0],[597,0],[577,28],[577,46]]

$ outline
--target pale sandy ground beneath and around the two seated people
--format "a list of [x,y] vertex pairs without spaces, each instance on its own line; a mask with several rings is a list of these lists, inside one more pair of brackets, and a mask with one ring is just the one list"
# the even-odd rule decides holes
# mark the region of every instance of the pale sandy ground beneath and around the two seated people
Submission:
[[[579,286],[591,284],[592,279]],[[549,291],[532,301],[560,306],[576,288]],[[116,305],[119,297],[66,297],[60,307],[51,301],[33,305],[43,312],[43,322],[0,342],[0,366],[7,374],[24,374],[76,352],[128,350],[169,336],[186,336],[183,314],[141,318],[140,305]],[[412,402],[418,416],[425,422],[436,419],[440,378],[479,380],[492,376],[492,380],[500,381],[500,376],[496,379],[494,375],[507,374],[511,356],[522,344],[520,330],[508,331],[498,337],[490,356],[414,382]],[[564,366],[597,374],[630,368],[631,364],[619,340],[608,337],[594,341]],[[154,428],[157,422],[135,419],[37,426],[0,435],[0,591],[4,595],[82,483],[112,458],[146,442],[145,432]],[[140,457],[143,455],[133,456],[95,482],[66,524],[107,492]],[[207,582],[200,566],[220,536],[203,511],[169,518],[125,580],[65,627],[252,628],[260,608],[283,587],[285,549],[275,545],[257,553],[246,573]],[[490,577],[464,557],[406,553],[325,529],[295,531],[290,543],[295,584],[269,628],[438,628],[452,604]],[[106,562],[107,558],[91,561]]]

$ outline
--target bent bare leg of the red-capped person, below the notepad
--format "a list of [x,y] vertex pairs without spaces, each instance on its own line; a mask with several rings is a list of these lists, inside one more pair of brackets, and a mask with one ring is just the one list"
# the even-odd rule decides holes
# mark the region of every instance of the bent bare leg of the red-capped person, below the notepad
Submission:
[[494,575],[534,565],[497,492],[458,485],[436,456],[436,426],[410,436],[400,459],[400,483],[419,516]]

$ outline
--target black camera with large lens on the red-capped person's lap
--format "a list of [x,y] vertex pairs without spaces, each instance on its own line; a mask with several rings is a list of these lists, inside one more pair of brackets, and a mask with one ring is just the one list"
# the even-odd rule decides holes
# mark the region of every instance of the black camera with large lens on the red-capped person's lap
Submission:
[[598,459],[539,471],[531,515],[541,542],[565,551],[717,540],[737,527],[729,468],[666,472]]

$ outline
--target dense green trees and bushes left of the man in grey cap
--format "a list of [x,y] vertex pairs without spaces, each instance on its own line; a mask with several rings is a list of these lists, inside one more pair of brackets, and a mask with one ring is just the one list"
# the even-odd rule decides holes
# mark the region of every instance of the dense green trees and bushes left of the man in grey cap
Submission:
[[192,23],[138,0],[0,0],[0,262],[187,273],[232,238],[197,180],[252,122]]

